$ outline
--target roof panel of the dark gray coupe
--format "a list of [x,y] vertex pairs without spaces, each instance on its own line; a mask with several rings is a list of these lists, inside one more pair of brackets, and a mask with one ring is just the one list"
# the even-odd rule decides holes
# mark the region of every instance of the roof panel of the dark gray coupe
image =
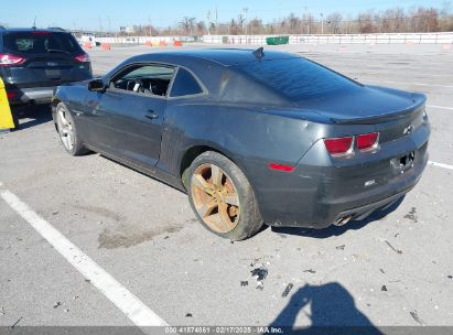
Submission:
[[[223,66],[233,66],[247,64],[251,62],[259,62],[260,60],[254,55],[252,48],[199,48],[199,50],[184,50],[184,51],[166,51],[158,52],[152,54],[142,55],[143,60],[152,60],[155,56],[164,56],[166,60],[172,57],[186,57],[193,60],[205,60],[217,63]],[[271,60],[288,60],[298,57],[296,55],[277,52],[277,51],[263,51],[265,56],[261,61],[271,61]]]

